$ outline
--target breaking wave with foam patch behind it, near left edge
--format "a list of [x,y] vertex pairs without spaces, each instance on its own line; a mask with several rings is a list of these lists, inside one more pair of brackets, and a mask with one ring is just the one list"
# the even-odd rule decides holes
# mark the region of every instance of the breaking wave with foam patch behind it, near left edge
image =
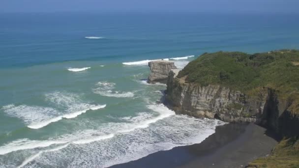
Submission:
[[89,110],[94,111],[106,107],[106,105],[83,103],[79,95],[71,93],[54,92],[46,94],[45,97],[57,108],[11,104],[3,106],[2,110],[9,116],[22,119],[28,128],[39,129],[63,118],[74,118]]

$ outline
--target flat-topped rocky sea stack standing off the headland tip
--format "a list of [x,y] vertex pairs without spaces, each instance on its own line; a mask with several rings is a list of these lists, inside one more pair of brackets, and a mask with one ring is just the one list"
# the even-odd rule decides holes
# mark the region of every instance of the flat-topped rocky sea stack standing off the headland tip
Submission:
[[177,69],[174,61],[154,60],[149,62],[151,73],[149,74],[149,83],[167,83],[169,72],[172,69]]

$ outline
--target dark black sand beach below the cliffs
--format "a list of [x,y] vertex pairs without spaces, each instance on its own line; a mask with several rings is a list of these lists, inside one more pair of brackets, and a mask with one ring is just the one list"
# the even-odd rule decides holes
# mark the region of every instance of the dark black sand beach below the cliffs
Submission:
[[110,168],[244,168],[266,156],[277,143],[255,124],[229,123],[199,144],[159,151]]

